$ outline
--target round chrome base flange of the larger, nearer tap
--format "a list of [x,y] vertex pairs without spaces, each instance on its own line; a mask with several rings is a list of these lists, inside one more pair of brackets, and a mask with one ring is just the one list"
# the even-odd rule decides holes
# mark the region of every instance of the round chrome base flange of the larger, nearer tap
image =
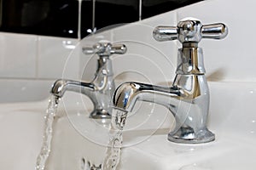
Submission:
[[168,140],[180,144],[201,144],[211,142],[214,139],[215,134],[207,128],[195,133],[191,127],[180,127],[177,132],[168,134]]

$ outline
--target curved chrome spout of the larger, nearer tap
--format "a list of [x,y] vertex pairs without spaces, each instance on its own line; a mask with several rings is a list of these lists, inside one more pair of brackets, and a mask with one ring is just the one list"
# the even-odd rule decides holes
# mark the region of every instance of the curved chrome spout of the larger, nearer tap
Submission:
[[[113,94],[113,105],[125,111],[132,111],[137,100],[165,105],[172,110],[174,103],[183,98],[183,90],[165,88],[140,82],[125,82]],[[172,99],[172,102],[169,101]]]

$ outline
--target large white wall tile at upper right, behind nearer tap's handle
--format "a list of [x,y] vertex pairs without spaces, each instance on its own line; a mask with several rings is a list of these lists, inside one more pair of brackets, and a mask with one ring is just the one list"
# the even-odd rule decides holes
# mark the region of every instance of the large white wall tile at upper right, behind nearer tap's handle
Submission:
[[177,10],[177,20],[195,17],[203,24],[223,22],[229,35],[222,41],[202,40],[207,76],[214,81],[256,81],[256,2],[211,0]]

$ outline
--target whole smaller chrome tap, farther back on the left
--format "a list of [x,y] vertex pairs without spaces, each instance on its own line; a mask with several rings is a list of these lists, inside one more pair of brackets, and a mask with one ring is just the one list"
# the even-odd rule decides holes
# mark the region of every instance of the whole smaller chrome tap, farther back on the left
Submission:
[[125,54],[124,44],[111,44],[109,42],[98,42],[93,47],[84,47],[84,54],[97,54],[97,69],[92,82],[77,82],[73,80],[57,80],[51,88],[51,94],[61,98],[66,91],[73,91],[88,96],[94,111],[90,113],[91,118],[103,119],[111,117],[111,97],[115,86],[113,82],[112,54]]

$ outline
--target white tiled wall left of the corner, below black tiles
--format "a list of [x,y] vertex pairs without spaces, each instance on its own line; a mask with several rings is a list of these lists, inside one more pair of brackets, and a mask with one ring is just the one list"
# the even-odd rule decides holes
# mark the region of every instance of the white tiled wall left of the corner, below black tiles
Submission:
[[49,96],[56,79],[79,77],[78,40],[0,32],[0,103]]

